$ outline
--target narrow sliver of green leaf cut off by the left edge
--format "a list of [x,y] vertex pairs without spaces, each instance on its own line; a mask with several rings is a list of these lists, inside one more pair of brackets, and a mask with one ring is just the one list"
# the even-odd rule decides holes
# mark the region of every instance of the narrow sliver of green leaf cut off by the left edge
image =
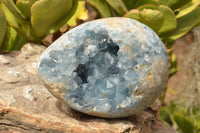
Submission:
[[0,47],[4,41],[6,35],[6,17],[4,12],[0,9]]

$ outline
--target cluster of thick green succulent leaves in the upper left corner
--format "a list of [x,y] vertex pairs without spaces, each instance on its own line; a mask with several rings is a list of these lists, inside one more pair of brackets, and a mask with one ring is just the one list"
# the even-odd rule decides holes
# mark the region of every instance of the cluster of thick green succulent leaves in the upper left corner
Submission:
[[0,49],[15,50],[24,42],[40,42],[62,27],[77,6],[78,0],[0,1]]

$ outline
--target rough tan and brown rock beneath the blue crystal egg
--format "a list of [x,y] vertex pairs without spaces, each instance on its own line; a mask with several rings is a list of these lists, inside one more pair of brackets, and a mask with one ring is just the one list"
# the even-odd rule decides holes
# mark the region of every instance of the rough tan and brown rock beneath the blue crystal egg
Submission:
[[159,102],[123,119],[73,111],[57,101],[36,75],[45,48],[26,44],[0,55],[0,133],[173,133],[159,119]]

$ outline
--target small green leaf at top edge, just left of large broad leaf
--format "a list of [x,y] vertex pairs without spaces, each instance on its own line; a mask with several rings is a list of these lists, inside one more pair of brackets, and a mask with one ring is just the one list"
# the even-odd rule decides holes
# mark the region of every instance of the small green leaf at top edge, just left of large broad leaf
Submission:
[[30,20],[31,19],[31,6],[36,1],[37,0],[17,0],[16,6]]

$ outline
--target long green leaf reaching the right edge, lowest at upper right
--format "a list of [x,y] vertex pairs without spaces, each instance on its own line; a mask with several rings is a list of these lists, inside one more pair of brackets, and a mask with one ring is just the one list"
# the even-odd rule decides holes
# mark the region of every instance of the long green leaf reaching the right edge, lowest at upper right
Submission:
[[200,7],[196,8],[193,12],[177,19],[176,30],[161,34],[165,42],[173,41],[189,32],[193,27],[200,24]]

